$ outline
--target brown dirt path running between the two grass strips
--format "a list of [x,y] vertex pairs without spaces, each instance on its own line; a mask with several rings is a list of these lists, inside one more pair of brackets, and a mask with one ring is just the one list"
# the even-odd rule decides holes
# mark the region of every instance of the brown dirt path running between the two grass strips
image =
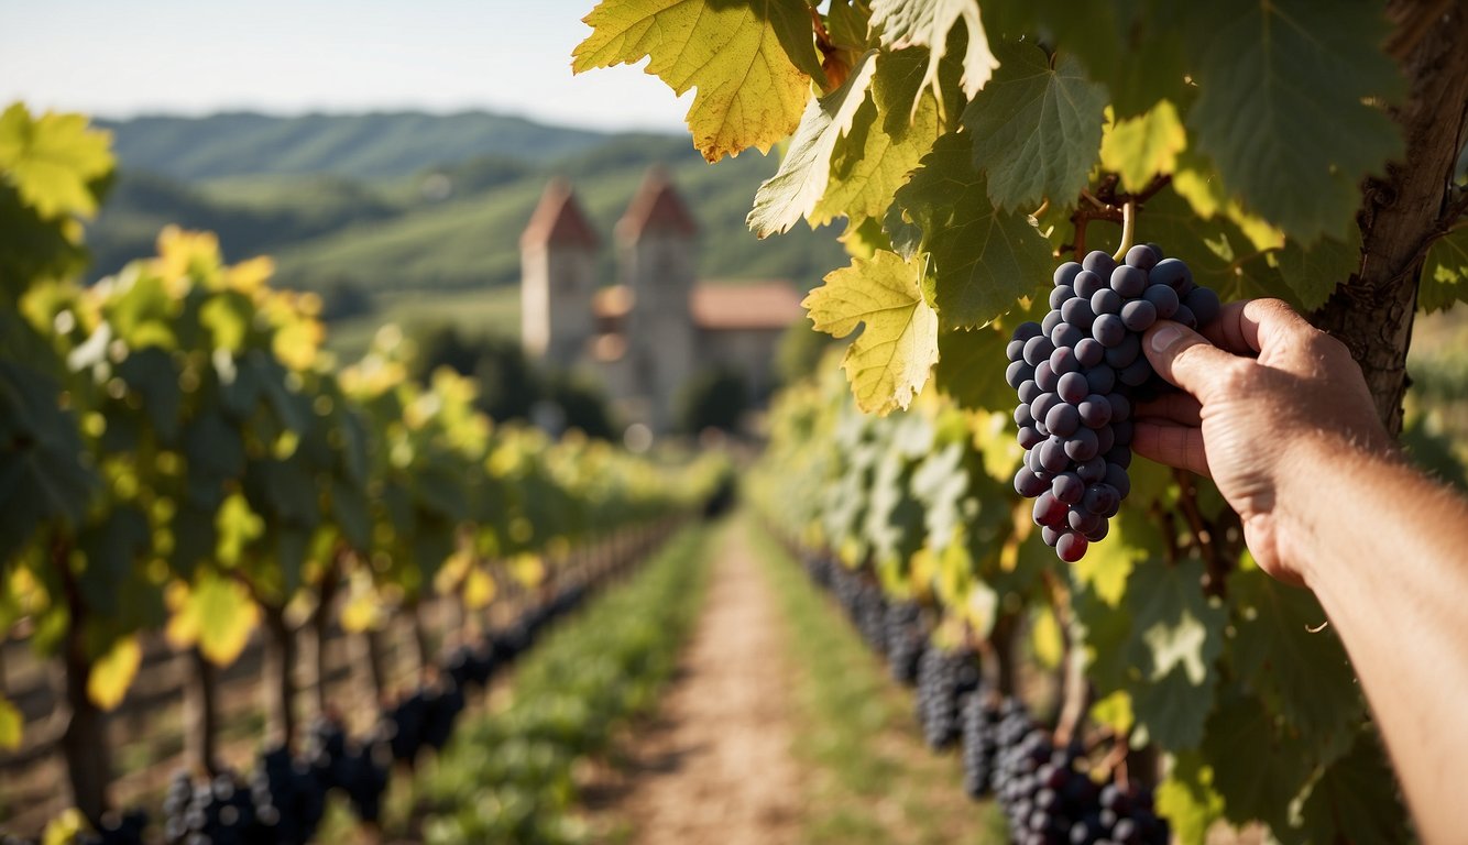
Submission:
[[797,835],[785,628],[738,525],[716,555],[678,679],[627,750],[625,782],[602,797],[639,845],[782,845]]

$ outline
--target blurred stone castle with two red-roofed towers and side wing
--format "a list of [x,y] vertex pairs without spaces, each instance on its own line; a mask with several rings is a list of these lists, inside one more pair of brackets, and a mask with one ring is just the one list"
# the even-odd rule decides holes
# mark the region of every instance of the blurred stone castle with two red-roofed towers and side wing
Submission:
[[649,172],[614,236],[619,280],[596,277],[600,239],[571,186],[552,180],[520,238],[521,342],[531,359],[590,373],[618,414],[666,433],[696,376],[772,387],[780,336],[803,318],[785,282],[694,279],[699,227],[666,175]]

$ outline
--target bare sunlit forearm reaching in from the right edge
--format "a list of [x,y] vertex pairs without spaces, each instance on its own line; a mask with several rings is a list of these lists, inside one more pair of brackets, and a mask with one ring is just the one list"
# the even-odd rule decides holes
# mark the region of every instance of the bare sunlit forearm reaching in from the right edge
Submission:
[[1280,491],[1282,552],[1351,654],[1427,842],[1462,835],[1468,506],[1395,459],[1317,443]]

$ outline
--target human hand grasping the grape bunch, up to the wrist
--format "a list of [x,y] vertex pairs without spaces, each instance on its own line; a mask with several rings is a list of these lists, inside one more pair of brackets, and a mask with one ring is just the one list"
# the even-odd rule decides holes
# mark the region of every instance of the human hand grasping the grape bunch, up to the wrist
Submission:
[[1392,450],[1351,352],[1279,299],[1232,302],[1205,334],[1161,320],[1142,349],[1186,393],[1142,403],[1132,447],[1213,477],[1260,565],[1305,584],[1314,462]]

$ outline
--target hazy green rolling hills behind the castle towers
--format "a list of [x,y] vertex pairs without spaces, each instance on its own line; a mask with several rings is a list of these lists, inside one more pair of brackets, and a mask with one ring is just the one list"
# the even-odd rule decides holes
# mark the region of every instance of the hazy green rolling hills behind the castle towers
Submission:
[[697,217],[705,277],[790,279],[846,263],[837,229],[757,241],[744,216],[774,156],[708,166],[687,136],[599,133],[487,113],[139,117],[115,132],[119,179],[88,241],[94,276],[150,255],[167,223],[219,233],[229,260],[269,254],[282,286],[465,292],[520,277],[518,238],[567,176],[603,238],[650,166]]

